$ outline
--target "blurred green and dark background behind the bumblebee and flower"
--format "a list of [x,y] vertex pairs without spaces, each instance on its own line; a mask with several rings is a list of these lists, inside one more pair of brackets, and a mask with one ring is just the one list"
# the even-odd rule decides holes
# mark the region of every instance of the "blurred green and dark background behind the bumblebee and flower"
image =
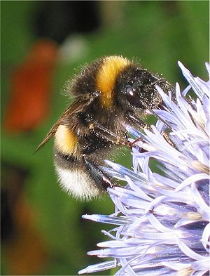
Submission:
[[[56,43],[57,57],[51,56],[46,77],[48,97],[39,98],[48,111],[38,114],[36,124],[13,129],[11,118],[6,121],[14,110],[38,112],[29,54],[43,39]],[[81,215],[112,213],[111,200],[69,197],[57,184],[52,141],[33,152],[69,103],[62,87],[75,74],[73,68],[113,54],[140,60],[183,88],[178,60],[207,79],[209,1],[1,1],[1,275],[77,275],[101,261],[86,252],[96,249],[106,239],[101,230],[111,227]],[[23,72],[19,90],[17,72]],[[28,100],[20,105],[24,90]],[[116,160],[131,166],[130,157]]]

